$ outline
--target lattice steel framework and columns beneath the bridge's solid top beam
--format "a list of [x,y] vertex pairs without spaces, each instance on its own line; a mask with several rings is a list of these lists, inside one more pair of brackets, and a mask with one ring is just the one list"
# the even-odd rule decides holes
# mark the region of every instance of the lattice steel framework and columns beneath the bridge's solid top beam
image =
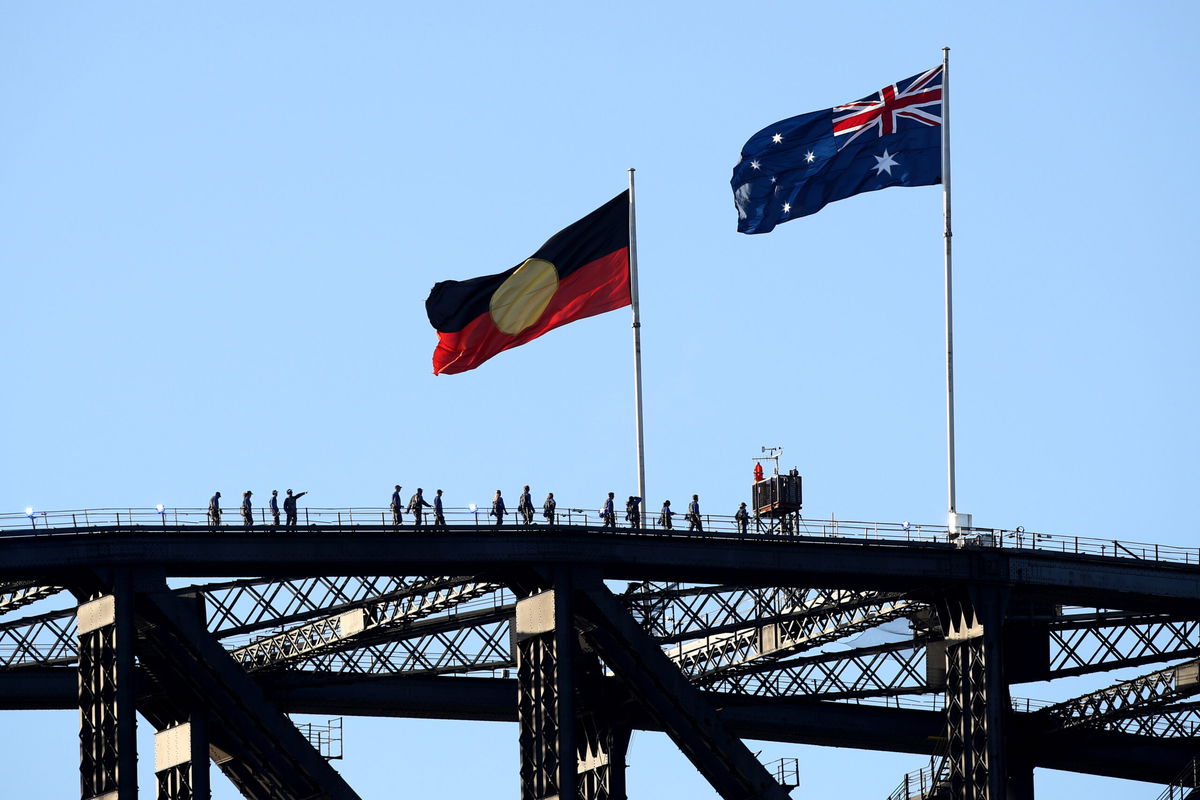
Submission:
[[[74,585],[10,581],[0,584],[0,614],[26,615],[0,621],[0,679],[78,675],[85,800],[134,796],[121,781],[136,754],[134,708],[162,742],[164,800],[208,796],[209,745],[247,798],[354,796],[317,765],[254,674],[514,674],[530,800],[624,800],[630,732],[647,721],[722,796],[782,796],[726,729],[715,697],[763,709],[875,700],[899,710],[905,698],[923,699],[946,718],[947,770],[931,772],[930,786],[956,800],[1032,798],[1033,756],[1012,733],[1018,722],[1055,741],[1097,732],[1200,742],[1200,621],[1177,603],[1015,603],[1002,581],[904,591],[648,581],[614,594],[578,565],[516,575],[260,577],[169,589],[149,576],[149,589],[137,590],[120,571]],[[47,608],[65,596],[60,584],[86,602]],[[1190,661],[1042,710],[1014,710],[1009,697],[1024,681],[1182,658]],[[133,694],[136,679],[148,681],[144,697]],[[175,696],[185,700],[166,699]]]

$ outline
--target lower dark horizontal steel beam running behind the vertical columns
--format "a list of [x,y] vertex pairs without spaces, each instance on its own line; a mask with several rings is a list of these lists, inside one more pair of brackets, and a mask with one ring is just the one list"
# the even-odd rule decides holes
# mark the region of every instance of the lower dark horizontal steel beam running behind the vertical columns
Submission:
[[[272,673],[257,678],[287,714],[516,722],[516,679],[421,678],[338,673]],[[31,668],[0,675],[0,710],[78,708],[74,667]],[[626,692],[610,678],[608,692]],[[930,756],[944,735],[941,711],[798,698],[760,698],[706,691],[731,733],[743,739],[853,747]],[[661,730],[637,704],[637,730]],[[1027,738],[1034,765],[1165,784],[1190,758],[1194,740],[1159,739],[1086,727],[1044,732],[1034,714],[1014,714],[1014,735]],[[1151,717],[1146,717],[1151,718]]]

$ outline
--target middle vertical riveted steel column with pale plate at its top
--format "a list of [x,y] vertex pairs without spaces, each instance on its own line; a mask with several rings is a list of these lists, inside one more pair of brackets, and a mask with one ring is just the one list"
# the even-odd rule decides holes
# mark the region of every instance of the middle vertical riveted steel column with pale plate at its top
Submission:
[[522,800],[578,796],[570,606],[566,578],[516,606]]

